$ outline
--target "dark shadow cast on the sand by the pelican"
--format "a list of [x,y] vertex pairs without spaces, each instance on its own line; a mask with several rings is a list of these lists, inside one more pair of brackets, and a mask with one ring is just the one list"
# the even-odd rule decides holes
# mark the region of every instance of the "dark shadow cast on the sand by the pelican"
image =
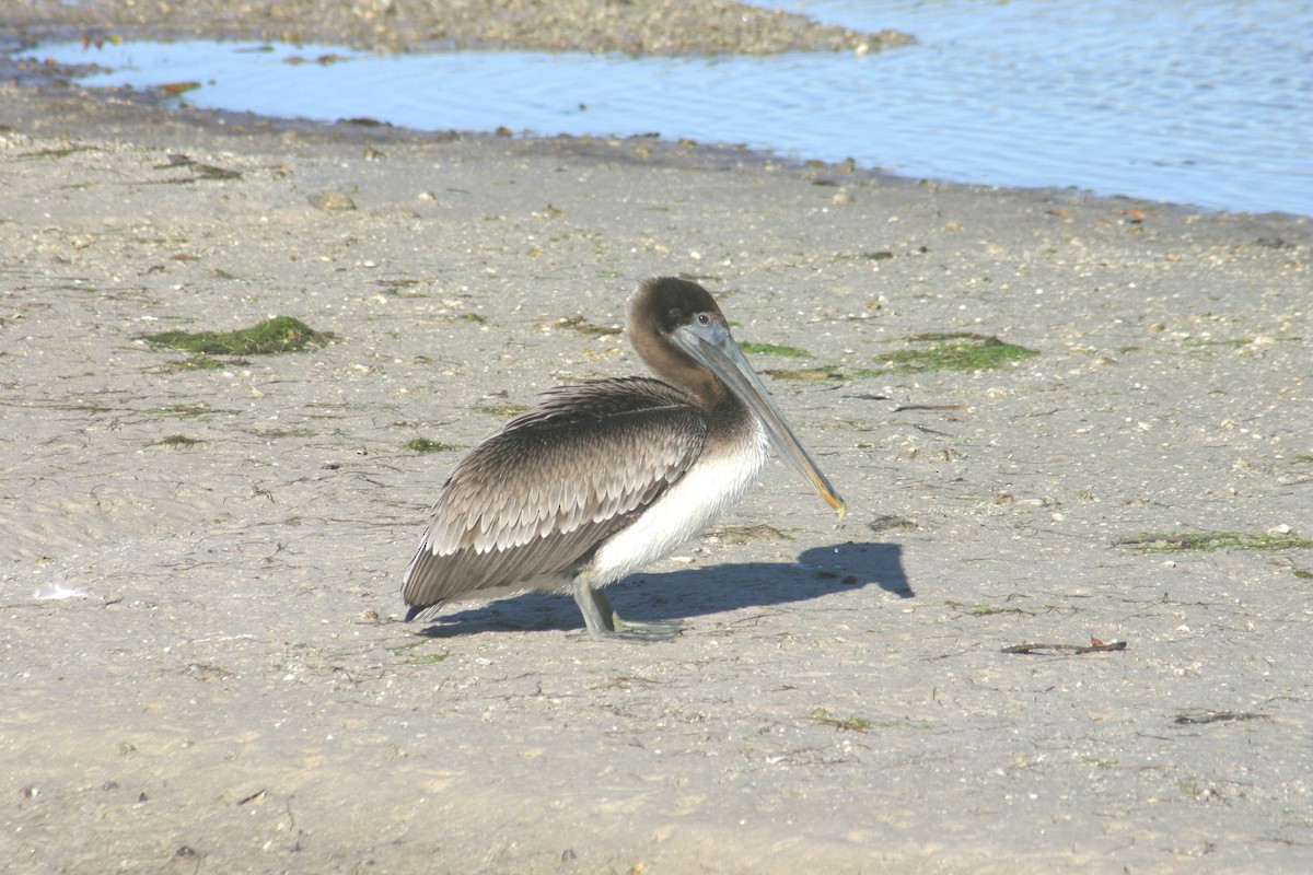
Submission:
[[[806,550],[796,563],[750,561],[634,575],[607,592],[626,619],[655,622],[809,601],[872,584],[899,598],[916,596],[903,572],[901,546],[846,542]],[[486,631],[575,630],[582,624],[569,596],[529,592],[445,613],[419,634],[456,638]]]

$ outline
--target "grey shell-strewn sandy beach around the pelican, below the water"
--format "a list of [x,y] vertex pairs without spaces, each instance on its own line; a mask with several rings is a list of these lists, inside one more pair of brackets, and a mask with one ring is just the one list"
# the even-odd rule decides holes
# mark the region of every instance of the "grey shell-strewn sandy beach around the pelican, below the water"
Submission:
[[[0,871],[1313,868],[1308,218],[7,70]],[[613,589],[671,641],[533,593],[399,622],[450,467],[642,373],[656,274],[850,516],[772,462]],[[144,340],[273,316],[331,337]]]

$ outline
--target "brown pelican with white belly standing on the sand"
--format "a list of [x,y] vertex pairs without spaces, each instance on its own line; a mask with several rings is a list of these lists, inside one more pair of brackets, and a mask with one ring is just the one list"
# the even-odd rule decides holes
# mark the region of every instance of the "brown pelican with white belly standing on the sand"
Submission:
[[406,571],[406,619],[457,597],[572,592],[593,636],[654,638],[603,588],[701,531],[776,450],[844,516],[701,286],[662,277],[629,302],[629,340],[666,382],[549,390],[456,466]]

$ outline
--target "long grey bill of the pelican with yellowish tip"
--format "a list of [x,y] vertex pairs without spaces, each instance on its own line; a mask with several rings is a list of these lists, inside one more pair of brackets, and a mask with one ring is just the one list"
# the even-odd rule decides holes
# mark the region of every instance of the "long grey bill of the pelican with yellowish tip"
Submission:
[[802,449],[802,443],[793,433],[793,429],[789,428],[784,413],[775,405],[775,400],[765,390],[765,384],[762,383],[762,378],[752,370],[747,357],[743,356],[743,350],[734,342],[734,338],[723,325],[717,321],[705,325],[696,323],[683,325],[671,332],[670,338],[729,386],[730,391],[738,395],[762,424],[765,425],[765,432],[771,437],[771,443],[775,445],[780,458],[802,475],[802,479],[810,483],[811,488],[840,517],[848,514],[848,505],[844,504],[839,493],[830,485],[826,476],[821,474],[821,468],[811,460],[807,451]]

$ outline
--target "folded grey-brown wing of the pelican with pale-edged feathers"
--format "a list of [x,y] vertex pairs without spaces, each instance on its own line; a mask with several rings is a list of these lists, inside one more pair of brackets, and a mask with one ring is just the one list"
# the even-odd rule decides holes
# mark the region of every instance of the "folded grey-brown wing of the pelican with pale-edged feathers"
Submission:
[[481,589],[565,582],[679,480],[706,420],[647,378],[553,390],[456,466],[406,572],[411,615]]

